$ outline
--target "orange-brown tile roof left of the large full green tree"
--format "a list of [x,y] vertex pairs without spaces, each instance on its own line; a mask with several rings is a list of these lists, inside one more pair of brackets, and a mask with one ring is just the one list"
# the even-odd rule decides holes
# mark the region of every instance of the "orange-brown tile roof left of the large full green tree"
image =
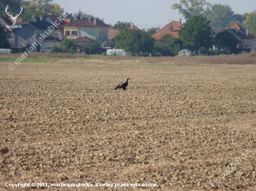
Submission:
[[175,38],[179,38],[178,33],[180,27],[183,27],[183,25],[179,21],[172,21],[159,31],[155,32],[155,34],[153,34],[152,37],[155,38],[155,40],[160,40],[165,34],[169,34],[174,36]]

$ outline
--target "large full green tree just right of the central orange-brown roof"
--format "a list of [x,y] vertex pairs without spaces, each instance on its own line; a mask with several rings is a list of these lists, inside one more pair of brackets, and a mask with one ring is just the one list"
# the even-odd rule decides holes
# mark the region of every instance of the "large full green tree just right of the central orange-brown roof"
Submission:
[[179,31],[179,37],[188,49],[193,51],[203,47],[208,50],[213,45],[212,28],[209,23],[210,21],[202,15],[192,15],[184,23],[184,27]]

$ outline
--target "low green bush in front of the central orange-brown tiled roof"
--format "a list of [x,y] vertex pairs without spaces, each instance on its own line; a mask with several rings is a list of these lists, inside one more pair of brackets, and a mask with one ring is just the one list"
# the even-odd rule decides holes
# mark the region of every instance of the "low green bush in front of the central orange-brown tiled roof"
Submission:
[[162,54],[162,56],[175,56],[182,50],[183,42],[179,38],[166,34],[158,44],[155,44],[155,52]]

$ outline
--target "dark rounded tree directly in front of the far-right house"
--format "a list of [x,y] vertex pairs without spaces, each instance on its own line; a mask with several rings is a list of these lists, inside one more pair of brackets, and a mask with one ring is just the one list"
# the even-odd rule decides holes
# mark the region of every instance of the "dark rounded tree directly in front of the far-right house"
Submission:
[[236,53],[237,43],[236,37],[227,30],[219,32],[214,38],[215,47],[224,54]]

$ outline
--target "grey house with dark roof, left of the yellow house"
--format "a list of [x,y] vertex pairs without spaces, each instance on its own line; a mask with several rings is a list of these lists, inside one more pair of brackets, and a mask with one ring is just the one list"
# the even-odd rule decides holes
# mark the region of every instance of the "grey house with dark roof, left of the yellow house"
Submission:
[[[30,21],[20,23],[20,25],[20,28],[12,30],[11,45],[14,52],[14,49],[26,47],[26,45],[32,45],[34,47],[33,51],[40,51],[41,48],[44,51],[45,47],[49,48],[56,44],[55,39],[57,38],[58,28],[42,20],[42,18],[33,18]],[[47,46],[40,47],[45,39],[47,39]],[[50,41],[52,43],[50,43]]]

